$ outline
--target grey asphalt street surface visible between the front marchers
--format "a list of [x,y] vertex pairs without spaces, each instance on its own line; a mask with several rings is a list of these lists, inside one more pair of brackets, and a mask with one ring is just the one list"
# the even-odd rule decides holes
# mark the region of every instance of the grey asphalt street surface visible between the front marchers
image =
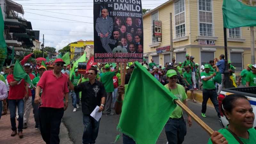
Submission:
[[[71,101],[71,100],[70,100]],[[201,104],[188,101],[188,107],[196,113],[197,116],[201,114]],[[213,130],[219,130],[220,124],[216,111],[212,107],[207,107],[207,118],[204,118],[204,122],[208,124]],[[186,119],[185,115],[185,119]],[[201,116],[200,116],[201,118]],[[119,132],[116,131],[116,126],[119,121],[119,115],[106,116],[103,115],[100,122],[99,135],[96,140],[96,144],[110,144],[115,141],[116,135]],[[63,116],[63,122],[67,126],[69,136],[75,144],[82,143],[82,135],[84,131],[83,117],[81,108],[78,111],[73,112],[71,102],[69,102],[68,109]],[[192,127],[187,126],[187,135],[185,137],[184,144],[205,144],[209,139],[209,135],[195,122],[192,122]],[[156,144],[166,144],[165,132],[162,131]],[[122,144],[122,137],[116,144]]]

